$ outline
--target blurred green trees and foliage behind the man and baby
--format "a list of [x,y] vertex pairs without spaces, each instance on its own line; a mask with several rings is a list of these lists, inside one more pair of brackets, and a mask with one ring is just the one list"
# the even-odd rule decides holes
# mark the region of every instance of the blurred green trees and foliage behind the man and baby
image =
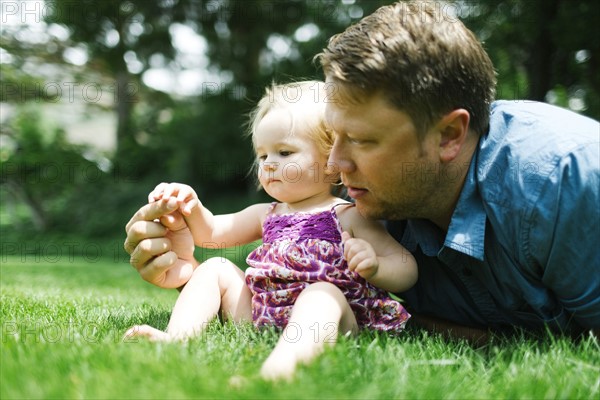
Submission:
[[[321,79],[312,59],[327,39],[388,3],[53,0],[35,21],[18,14],[35,13],[19,10],[23,2],[3,9],[22,17],[1,27],[0,94],[12,106],[0,122],[3,240],[31,232],[123,236],[124,224],[161,181],[190,184],[215,212],[266,200],[248,176],[246,114],[271,81]],[[600,117],[600,42],[593,39],[599,2],[428,3],[460,18],[484,42],[498,70],[499,98],[546,100]],[[181,72],[202,62],[174,45],[177,24],[205,39],[205,69],[215,77],[193,96],[152,89],[143,79],[152,68]],[[74,49],[84,54],[79,62],[67,56]],[[112,102],[80,99],[79,105],[92,117],[114,113],[116,150],[98,155],[69,143],[66,127],[42,112],[67,93],[60,99],[44,82],[112,88]]]

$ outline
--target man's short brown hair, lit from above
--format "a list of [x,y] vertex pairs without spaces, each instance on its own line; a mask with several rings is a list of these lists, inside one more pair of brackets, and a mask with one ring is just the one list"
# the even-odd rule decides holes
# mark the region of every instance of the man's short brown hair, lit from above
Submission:
[[381,7],[333,36],[316,58],[328,82],[342,87],[342,101],[381,93],[411,116],[420,135],[464,108],[481,135],[496,93],[494,67],[473,33],[436,4]]

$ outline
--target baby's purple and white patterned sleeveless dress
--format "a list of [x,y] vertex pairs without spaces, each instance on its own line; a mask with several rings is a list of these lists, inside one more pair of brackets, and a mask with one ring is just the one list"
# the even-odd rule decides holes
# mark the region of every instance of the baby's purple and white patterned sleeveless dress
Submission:
[[335,206],[278,215],[273,213],[276,205],[271,205],[263,224],[263,244],[246,260],[256,326],[283,328],[302,290],[314,282],[331,282],[346,296],[360,328],[404,329],[410,318],[404,307],[348,269]]

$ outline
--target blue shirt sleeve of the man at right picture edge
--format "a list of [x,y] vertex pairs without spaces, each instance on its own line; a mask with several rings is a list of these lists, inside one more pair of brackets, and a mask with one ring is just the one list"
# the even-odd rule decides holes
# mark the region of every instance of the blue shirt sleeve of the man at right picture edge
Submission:
[[524,235],[542,284],[584,328],[600,327],[600,146],[560,160],[542,187]]

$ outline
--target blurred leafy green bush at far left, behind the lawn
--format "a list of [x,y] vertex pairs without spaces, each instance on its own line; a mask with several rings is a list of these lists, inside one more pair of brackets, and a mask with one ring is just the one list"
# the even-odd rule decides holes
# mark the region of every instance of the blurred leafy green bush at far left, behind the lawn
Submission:
[[22,109],[3,132],[13,141],[0,161],[3,240],[37,232],[122,234],[143,181],[131,170],[103,171],[36,109]]

